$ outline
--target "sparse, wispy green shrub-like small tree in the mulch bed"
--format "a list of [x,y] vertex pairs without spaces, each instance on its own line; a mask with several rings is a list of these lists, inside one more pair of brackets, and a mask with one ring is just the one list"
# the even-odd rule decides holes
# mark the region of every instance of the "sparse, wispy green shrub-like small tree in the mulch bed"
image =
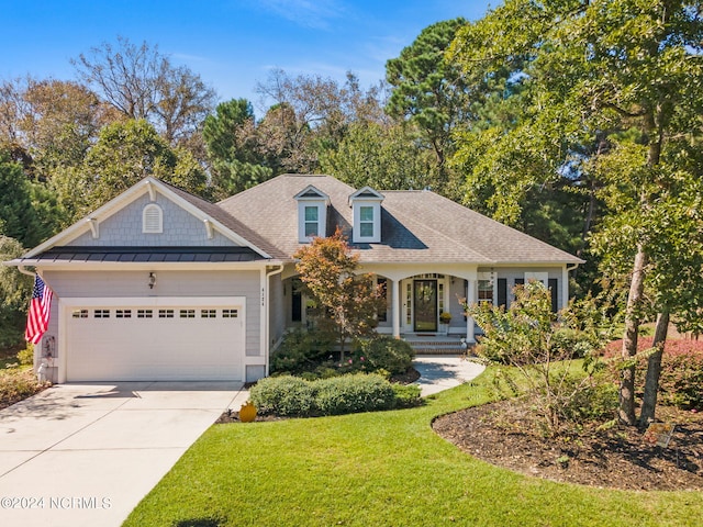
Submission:
[[[500,379],[509,383],[513,394],[526,388],[544,433],[557,436],[565,424],[600,413],[594,405],[599,403],[598,394],[605,393],[607,386],[594,377],[603,365],[592,354],[605,344],[610,332],[594,325],[598,317],[593,316],[589,300],[556,314],[551,311],[550,292],[542,282],[517,285],[514,293],[515,300],[507,310],[489,303],[461,303],[483,329],[477,347],[479,356],[513,367],[500,370]],[[571,368],[576,356],[584,357],[583,374]],[[517,379],[511,372],[518,372]],[[603,405],[603,413],[614,413],[615,392],[609,396],[612,404]]]

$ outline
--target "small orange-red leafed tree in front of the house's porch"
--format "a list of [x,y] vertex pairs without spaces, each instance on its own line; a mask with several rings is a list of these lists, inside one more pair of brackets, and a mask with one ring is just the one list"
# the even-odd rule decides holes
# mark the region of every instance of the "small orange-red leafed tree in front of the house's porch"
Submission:
[[337,228],[334,236],[313,238],[294,255],[295,270],[308,292],[319,304],[321,322],[330,322],[339,341],[344,360],[348,338],[369,335],[377,325],[376,315],[384,302],[373,274],[356,274],[359,258],[353,255],[347,238]]

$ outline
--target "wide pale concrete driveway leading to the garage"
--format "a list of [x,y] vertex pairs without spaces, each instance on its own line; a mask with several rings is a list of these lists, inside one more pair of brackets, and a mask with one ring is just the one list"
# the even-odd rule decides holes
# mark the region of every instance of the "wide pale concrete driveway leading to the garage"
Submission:
[[121,525],[247,396],[242,383],[79,383],[0,411],[0,525]]

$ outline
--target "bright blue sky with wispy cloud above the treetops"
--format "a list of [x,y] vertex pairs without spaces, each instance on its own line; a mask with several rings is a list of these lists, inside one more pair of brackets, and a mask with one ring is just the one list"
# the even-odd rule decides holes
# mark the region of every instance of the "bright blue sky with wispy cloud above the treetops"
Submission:
[[488,8],[489,0],[0,0],[0,80],[72,79],[70,58],[121,35],[158,45],[222,100],[243,97],[256,108],[256,82],[272,68],[338,81],[350,70],[366,88],[424,27],[476,20]]

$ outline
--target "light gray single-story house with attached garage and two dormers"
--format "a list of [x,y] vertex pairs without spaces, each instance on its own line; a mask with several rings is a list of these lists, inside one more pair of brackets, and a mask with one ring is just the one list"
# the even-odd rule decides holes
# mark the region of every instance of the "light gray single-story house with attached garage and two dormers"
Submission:
[[217,204],[145,178],[8,264],[54,291],[36,360],[57,382],[254,381],[306,323],[291,255],[337,226],[383,285],[378,330],[395,337],[473,341],[457,299],[509,305],[529,279],[561,307],[582,261],[431,191],[283,175]]

